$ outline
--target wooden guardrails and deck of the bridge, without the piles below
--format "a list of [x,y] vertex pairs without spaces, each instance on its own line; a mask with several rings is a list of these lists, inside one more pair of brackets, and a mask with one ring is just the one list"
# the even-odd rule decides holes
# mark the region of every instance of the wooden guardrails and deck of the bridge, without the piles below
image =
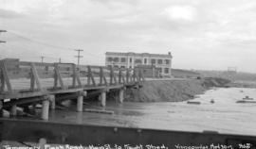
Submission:
[[116,85],[144,80],[141,71],[73,63],[40,63],[0,60],[0,99],[36,96],[48,92]]

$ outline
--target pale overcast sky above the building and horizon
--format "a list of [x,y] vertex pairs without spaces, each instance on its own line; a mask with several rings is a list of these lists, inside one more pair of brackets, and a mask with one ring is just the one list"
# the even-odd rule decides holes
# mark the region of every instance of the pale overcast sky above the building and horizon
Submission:
[[255,18],[255,0],[0,0],[0,58],[171,51],[174,68],[256,73]]

